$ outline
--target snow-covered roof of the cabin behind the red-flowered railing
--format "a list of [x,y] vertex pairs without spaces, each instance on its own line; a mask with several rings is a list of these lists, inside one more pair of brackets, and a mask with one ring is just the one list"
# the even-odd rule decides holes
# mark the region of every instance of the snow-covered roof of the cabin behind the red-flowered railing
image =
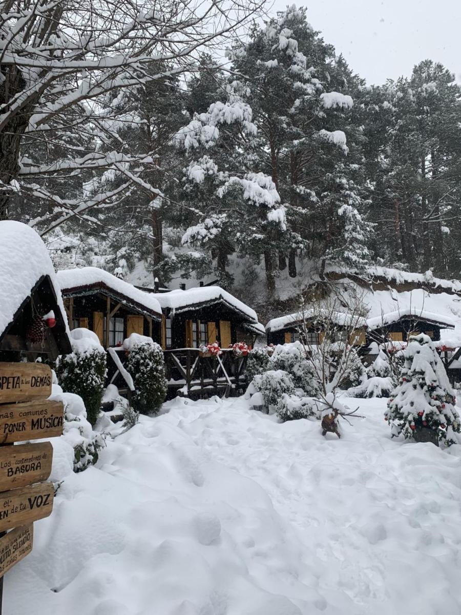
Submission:
[[258,315],[243,301],[219,286],[200,286],[187,288],[187,290],[170,290],[168,293],[155,293],[154,295],[163,309],[170,308],[173,312],[184,312],[188,309],[199,308],[203,303],[227,304],[232,309],[245,315],[248,320],[258,322]]

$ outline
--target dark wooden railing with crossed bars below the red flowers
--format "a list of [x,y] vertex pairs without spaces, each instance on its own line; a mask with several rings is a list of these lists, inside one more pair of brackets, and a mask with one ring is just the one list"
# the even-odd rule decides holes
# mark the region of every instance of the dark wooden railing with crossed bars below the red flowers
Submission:
[[239,395],[246,384],[246,357],[237,357],[232,349],[218,357],[203,355],[198,348],[164,351],[168,395],[199,399],[211,395]]

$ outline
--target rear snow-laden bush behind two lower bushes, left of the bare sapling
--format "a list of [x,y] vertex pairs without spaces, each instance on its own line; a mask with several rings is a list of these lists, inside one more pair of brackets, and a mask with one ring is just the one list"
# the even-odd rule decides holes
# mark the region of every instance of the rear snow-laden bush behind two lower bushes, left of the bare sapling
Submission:
[[307,395],[317,395],[318,382],[312,363],[307,360],[304,346],[298,341],[293,344],[279,344],[270,358],[274,370],[287,371],[295,387]]

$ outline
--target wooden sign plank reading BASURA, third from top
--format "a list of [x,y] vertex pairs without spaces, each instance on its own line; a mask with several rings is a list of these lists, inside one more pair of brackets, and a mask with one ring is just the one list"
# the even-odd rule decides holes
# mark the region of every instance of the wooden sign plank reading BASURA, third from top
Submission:
[[53,447],[50,442],[0,448],[0,491],[17,489],[47,480]]

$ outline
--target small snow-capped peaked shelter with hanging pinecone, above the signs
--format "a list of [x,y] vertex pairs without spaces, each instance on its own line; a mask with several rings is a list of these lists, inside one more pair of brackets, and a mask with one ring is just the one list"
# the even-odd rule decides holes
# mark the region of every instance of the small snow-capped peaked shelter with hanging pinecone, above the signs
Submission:
[[60,286],[41,237],[0,222],[0,360],[55,360],[71,352]]

